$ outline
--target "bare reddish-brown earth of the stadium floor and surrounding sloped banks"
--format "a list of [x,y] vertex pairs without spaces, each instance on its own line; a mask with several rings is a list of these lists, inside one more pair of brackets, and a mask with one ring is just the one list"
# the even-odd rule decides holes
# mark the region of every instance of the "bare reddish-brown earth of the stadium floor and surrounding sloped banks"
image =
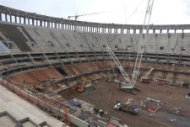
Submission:
[[[67,71],[72,75],[91,72],[105,68],[108,65],[107,62],[93,62],[93,63],[78,63],[75,65],[67,65]],[[129,67],[129,63],[123,63],[126,67]],[[147,64],[142,63],[142,67],[146,68],[160,68],[173,71],[187,72],[189,67],[185,66],[173,66],[173,65],[160,65],[160,64]],[[129,73],[129,70],[127,70]],[[144,75],[146,72],[142,72]],[[153,78],[180,80],[190,82],[190,75],[152,72],[150,75]],[[17,73],[10,76],[14,81],[31,85],[38,85],[40,81],[47,80],[49,78],[61,79],[63,76],[55,68],[36,69],[33,71],[27,71]],[[99,79],[101,75],[86,76],[86,78]],[[137,94],[130,94],[124,91],[118,90],[115,82],[106,82],[105,80],[98,80],[93,82],[93,88],[87,89],[83,93],[77,93],[74,90],[68,90],[61,93],[65,99],[79,98],[86,102],[95,105],[99,109],[103,109],[108,114],[108,117],[117,117],[125,122],[129,127],[189,127],[190,121],[190,99],[186,99],[185,95],[190,92],[190,89],[182,87],[174,87],[169,85],[160,85],[157,82],[151,84],[137,83],[137,87],[142,92]],[[115,111],[113,109],[113,103],[116,100],[125,102],[129,98],[133,98],[140,103],[147,97],[160,100],[164,104],[164,108],[158,113],[151,113],[147,111],[141,111],[139,115],[133,116],[128,113]],[[177,116],[175,114],[175,108],[181,108],[185,116]],[[178,118],[179,117],[179,118]],[[173,119],[177,119],[176,121]],[[186,120],[187,119],[187,120]]]

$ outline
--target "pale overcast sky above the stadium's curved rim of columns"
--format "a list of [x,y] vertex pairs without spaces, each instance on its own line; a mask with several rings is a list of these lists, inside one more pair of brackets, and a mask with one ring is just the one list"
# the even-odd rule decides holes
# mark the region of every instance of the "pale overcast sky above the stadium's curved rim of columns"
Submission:
[[[0,0],[1,5],[78,20],[104,23],[142,24],[148,0]],[[190,24],[190,0],[154,0],[151,24]]]

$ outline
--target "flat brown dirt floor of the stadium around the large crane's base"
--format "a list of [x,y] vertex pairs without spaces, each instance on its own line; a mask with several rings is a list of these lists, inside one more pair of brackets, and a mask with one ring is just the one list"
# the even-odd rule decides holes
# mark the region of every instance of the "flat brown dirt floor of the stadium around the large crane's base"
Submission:
[[[134,95],[118,90],[114,82],[109,83],[105,80],[94,83],[93,87],[94,89],[86,90],[84,93],[77,93],[73,90],[67,91],[62,93],[62,96],[66,99],[79,98],[89,102],[97,108],[108,112],[108,116],[121,119],[130,127],[173,127],[175,123],[171,122],[169,117],[166,119],[165,117],[146,111],[141,111],[137,116],[115,111],[113,109],[113,103],[116,100],[125,102],[128,98],[133,98],[140,103],[140,101],[146,97],[151,97],[161,100],[165,105],[170,107],[172,111],[174,111],[175,107],[181,107],[190,112],[190,100],[185,98],[185,95],[190,92],[189,89],[167,85],[139,84],[138,88],[140,88],[142,92]],[[167,112],[167,110],[163,112]],[[190,119],[190,117],[188,117],[188,119]],[[181,127],[181,124],[179,126]],[[184,127],[186,126],[184,125]]]

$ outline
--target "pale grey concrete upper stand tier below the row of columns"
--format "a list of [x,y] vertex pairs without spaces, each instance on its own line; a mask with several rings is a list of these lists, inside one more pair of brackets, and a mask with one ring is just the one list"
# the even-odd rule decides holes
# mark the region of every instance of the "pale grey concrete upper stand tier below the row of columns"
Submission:
[[[17,29],[28,40],[26,44],[33,52],[103,51],[107,50],[107,44],[115,51],[137,52],[139,42],[144,41],[145,52],[148,53],[182,55],[190,53],[190,33],[149,33],[143,38],[142,34],[136,33],[75,32],[28,25],[17,25]],[[1,36],[4,36],[3,31],[0,32]],[[14,47],[11,51],[20,50]]]

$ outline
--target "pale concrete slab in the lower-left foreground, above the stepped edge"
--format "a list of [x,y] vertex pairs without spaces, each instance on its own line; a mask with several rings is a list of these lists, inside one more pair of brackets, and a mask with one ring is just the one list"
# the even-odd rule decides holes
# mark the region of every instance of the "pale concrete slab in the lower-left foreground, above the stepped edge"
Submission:
[[[53,127],[65,127],[65,124],[61,121],[51,117],[47,113],[41,111],[34,105],[28,103],[27,101],[21,99],[20,97],[8,91],[6,88],[2,86],[0,86],[0,102],[0,109],[2,111],[7,111],[16,120],[21,120],[26,117],[29,117],[29,119],[33,121],[35,124],[40,124],[46,121],[48,125]],[[4,118],[4,120],[6,121],[7,119]],[[9,127],[3,126],[6,123],[3,122],[2,126],[0,127]]]

